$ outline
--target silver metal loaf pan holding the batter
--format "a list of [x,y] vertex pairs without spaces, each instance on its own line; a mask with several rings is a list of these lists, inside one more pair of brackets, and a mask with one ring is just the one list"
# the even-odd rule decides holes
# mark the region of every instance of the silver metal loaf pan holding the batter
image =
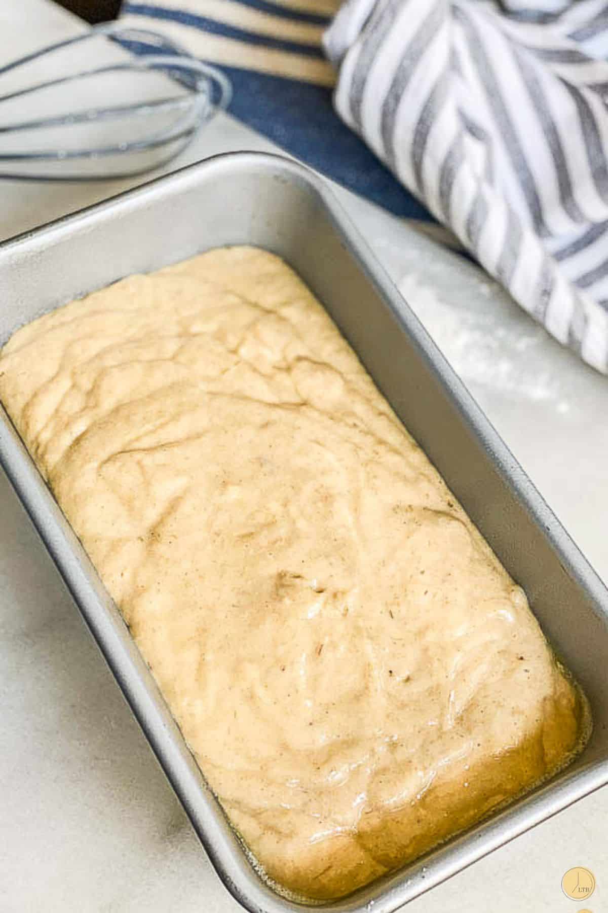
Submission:
[[[345,900],[316,905],[392,913],[608,782],[608,593],[325,184],[291,161],[259,153],[219,156],[5,243],[0,342],[39,314],[129,273],[231,244],[284,257],[324,302],[525,588],[544,632],[592,704],[592,739],[551,782],[416,864]],[[0,459],[226,887],[252,913],[310,909],[275,893],[250,865],[127,627],[4,413]]]

